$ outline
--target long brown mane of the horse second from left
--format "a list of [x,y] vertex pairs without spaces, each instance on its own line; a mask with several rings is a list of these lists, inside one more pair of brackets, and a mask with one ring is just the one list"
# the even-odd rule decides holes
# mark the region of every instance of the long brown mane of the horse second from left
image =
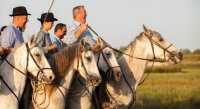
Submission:
[[50,57],[49,64],[56,77],[53,83],[47,87],[50,89],[50,93],[59,85],[60,80],[65,76],[65,73],[68,72],[75,60],[79,59],[80,54],[79,44],[72,44]]

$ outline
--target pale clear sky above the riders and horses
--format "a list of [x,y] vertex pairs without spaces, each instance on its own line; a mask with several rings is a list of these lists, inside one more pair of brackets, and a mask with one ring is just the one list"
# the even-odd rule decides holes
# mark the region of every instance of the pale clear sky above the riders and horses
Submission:
[[[27,39],[39,31],[37,18],[47,12],[52,0],[0,2],[0,26],[9,25],[13,7],[25,6],[32,14],[24,33]],[[200,48],[200,0],[55,0],[51,9],[59,20],[55,25],[70,24],[72,9],[77,5],[85,6],[87,23],[113,47],[129,44],[143,31],[145,24],[178,48]]]

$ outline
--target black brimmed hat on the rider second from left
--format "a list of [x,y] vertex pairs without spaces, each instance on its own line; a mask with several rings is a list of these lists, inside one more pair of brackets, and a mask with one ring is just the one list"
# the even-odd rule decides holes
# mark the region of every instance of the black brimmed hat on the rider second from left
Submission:
[[[47,17],[46,17],[46,15],[47,15]],[[45,17],[46,17],[46,19],[45,19]],[[52,12],[49,12],[48,14],[47,13],[43,13],[41,15],[41,18],[38,18],[38,20],[39,21],[44,21],[45,20],[47,22],[49,22],[49,21],[58,21],[58,19],[54,18],[54,15],[53,15]]]

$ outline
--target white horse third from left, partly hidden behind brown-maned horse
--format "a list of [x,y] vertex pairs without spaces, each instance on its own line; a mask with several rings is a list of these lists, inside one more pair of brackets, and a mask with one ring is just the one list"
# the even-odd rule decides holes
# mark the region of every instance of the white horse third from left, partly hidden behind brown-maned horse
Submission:
[[[98,38],[97,43],[101,45],[99,53],[95,55],[98,68],[103,76],[103,81],[120,80],[121,70],[115,58],[115,55],[109,45]],[[85,87],[84,80],[74,80],[71,85],[70,93],[67,96],[66,109],[92,109],[99,105],[98,98],[92,98],[95,87]],[[84,90],[82,90],[84,89]]]

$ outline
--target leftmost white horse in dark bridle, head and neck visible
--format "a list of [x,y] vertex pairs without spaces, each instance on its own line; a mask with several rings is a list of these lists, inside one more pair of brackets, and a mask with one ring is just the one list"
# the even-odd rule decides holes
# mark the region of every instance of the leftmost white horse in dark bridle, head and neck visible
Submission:
[[[16,47],[0,65],[0,109],[18,109],[27,77],[43,83],[51,83],[54,79],[46,57],[39,47],[35,47],[33,39]],[[27,76],[28,72],[33,77]]]

